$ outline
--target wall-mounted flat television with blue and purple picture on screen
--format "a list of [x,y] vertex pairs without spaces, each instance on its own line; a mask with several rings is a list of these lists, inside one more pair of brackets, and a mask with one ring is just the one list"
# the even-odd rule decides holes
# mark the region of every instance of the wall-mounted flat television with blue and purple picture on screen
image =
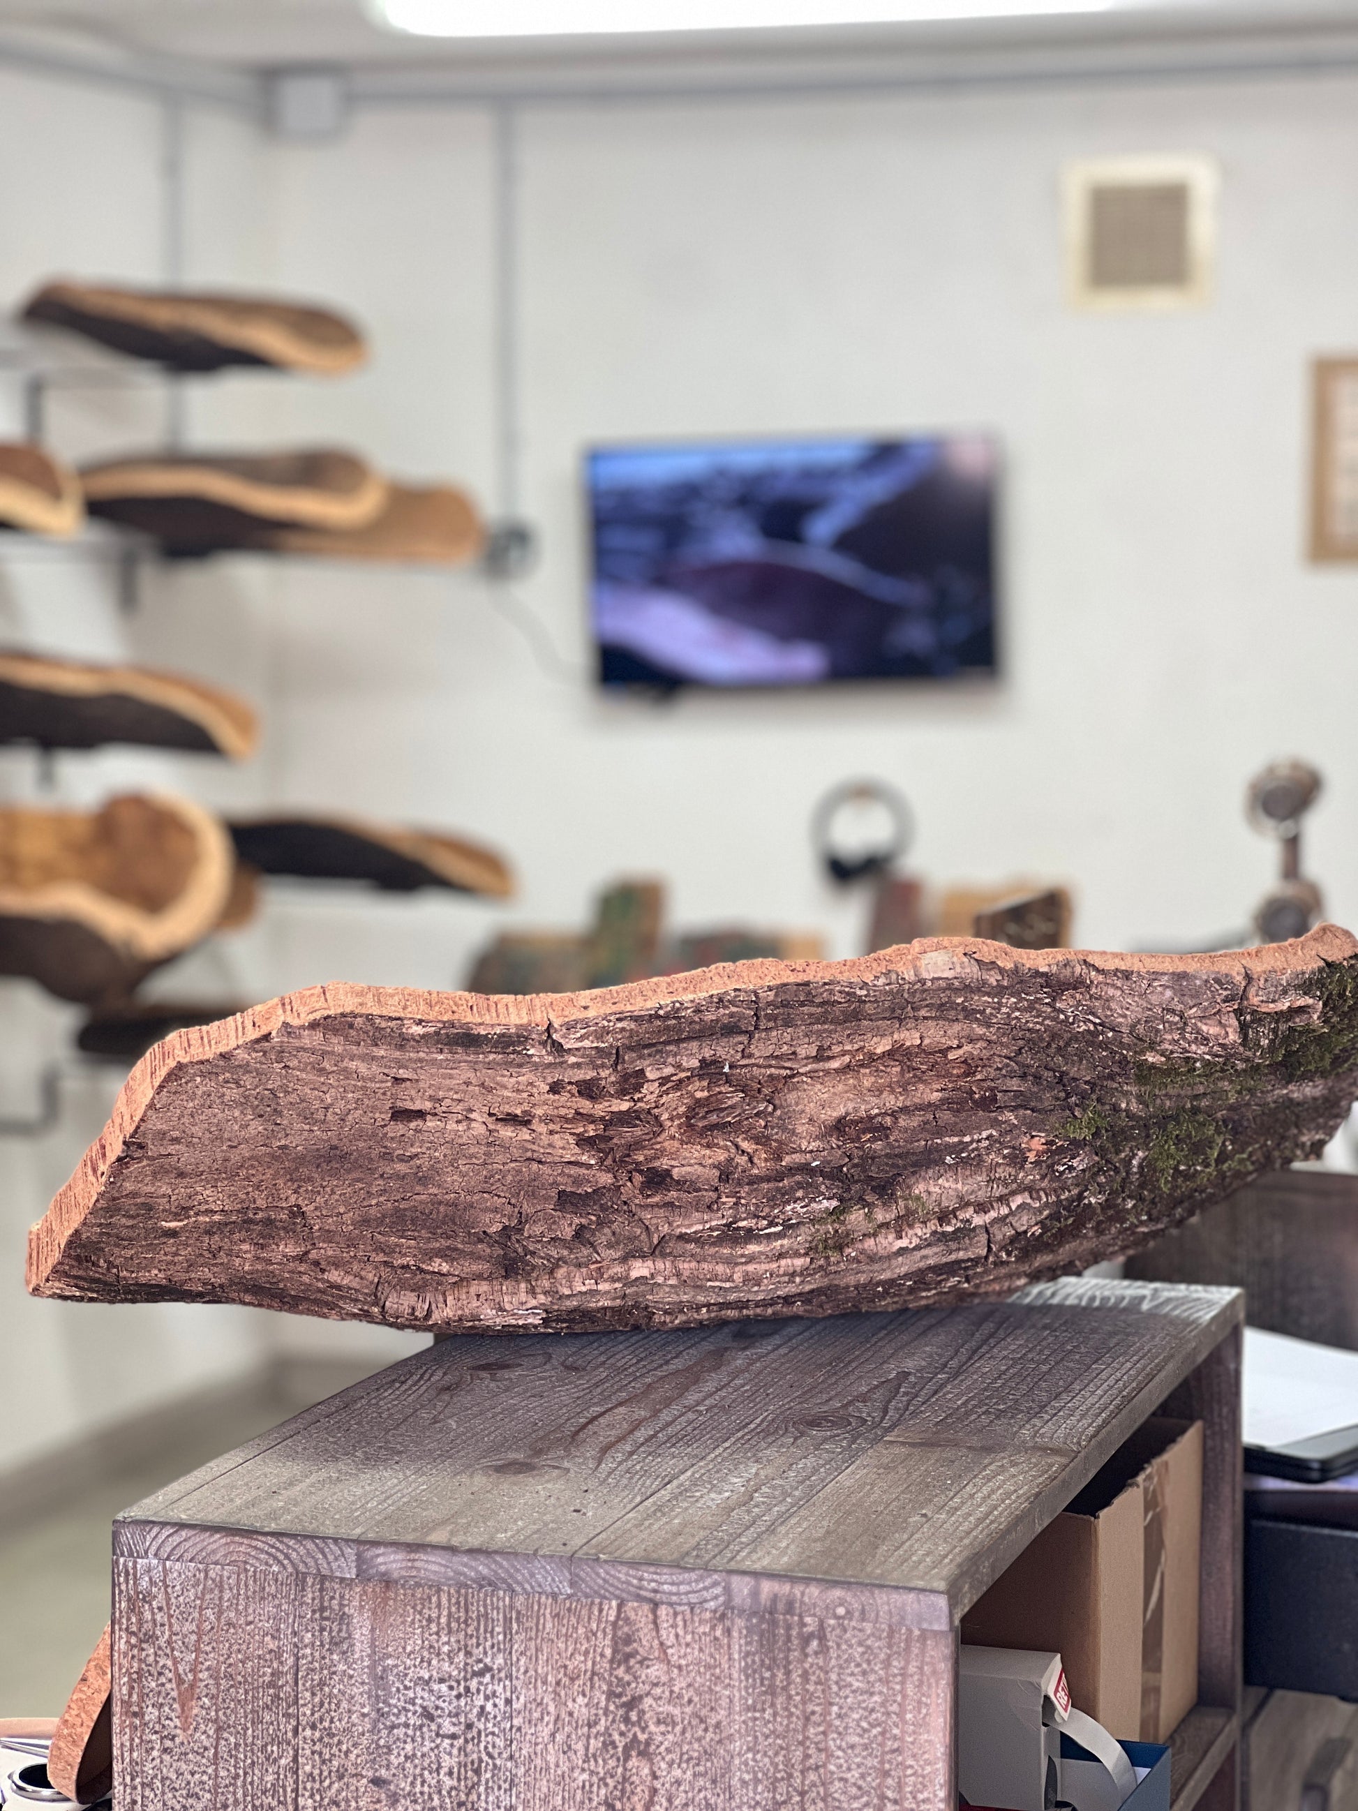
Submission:
[[996,670],[996,444],[826,435],[587,453],[605,686]]

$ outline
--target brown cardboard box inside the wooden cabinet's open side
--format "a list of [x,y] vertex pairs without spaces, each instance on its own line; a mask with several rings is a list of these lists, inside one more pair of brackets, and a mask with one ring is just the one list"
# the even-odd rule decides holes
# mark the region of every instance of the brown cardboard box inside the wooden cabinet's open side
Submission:
[[1197,1702],[1202,1423],[1153,1416],[961,1619],[961,1639],[1061,1653],[1079,1710],[1168,1742]]

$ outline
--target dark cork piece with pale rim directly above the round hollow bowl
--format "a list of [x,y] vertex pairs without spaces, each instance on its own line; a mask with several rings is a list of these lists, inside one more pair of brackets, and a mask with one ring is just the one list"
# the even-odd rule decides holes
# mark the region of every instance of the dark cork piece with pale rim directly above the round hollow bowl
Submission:
[[0,648],[0,743],[130,743],[243,761],[259,741],[244,699],[148,666],[101,666]]

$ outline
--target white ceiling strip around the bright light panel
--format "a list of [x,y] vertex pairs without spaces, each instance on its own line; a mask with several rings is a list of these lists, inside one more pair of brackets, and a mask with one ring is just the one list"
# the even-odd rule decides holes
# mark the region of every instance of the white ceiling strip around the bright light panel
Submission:
[[235,67],[286,63],[478,63],[521,58],[541,62],[639,53],[742,56],[782,45],[815,54],[818,49],[865,49],[889,43],[896,51],[940,43],[994,43],[1110,38],[1219,38],[1260,33],[1311,36],[1358,27],[1358,0],[1117,0],[1112,11],[1032,20],[972,20],[827,27],[822,31],[684,33],[632,38],[482,38],[449,42],[415,38],[378,25],[364,0],[0,0],[0,27],[38,29],[63,38],[96,40],[107,49],[199,58]]

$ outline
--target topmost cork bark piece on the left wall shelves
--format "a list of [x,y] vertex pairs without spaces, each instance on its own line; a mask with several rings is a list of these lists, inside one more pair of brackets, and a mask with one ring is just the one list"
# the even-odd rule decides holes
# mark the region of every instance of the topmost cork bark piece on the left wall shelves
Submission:
[[368,357],[362,333],[342,315],[255,295],[63,279],[43,284],[27,301],[24,319],[67,328],[172,371],[246,364],[339,377]]

